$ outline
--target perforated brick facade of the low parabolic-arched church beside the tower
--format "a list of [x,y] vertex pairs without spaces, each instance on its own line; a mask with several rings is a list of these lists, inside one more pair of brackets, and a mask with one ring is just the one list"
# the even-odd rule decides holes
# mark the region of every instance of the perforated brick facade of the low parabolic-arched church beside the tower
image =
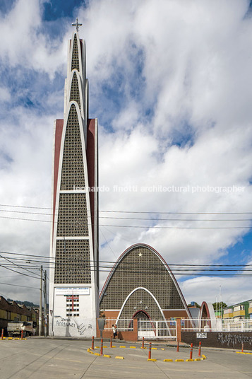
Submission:
[[169,267],[148,245],[130,247],[121,255],[100,297],[100,309],[118,310],[120,318],[143,311],[152,320],[162,320],[163,310],[186,308]]

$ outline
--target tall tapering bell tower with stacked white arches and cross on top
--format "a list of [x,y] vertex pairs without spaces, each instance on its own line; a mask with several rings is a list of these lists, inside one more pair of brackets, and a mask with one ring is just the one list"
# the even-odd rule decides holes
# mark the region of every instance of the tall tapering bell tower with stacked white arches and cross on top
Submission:
[[97,119],[88,118],[85,41],[68,42],[64,119],[54,123],[49,334],[96,335],[99,288]]

